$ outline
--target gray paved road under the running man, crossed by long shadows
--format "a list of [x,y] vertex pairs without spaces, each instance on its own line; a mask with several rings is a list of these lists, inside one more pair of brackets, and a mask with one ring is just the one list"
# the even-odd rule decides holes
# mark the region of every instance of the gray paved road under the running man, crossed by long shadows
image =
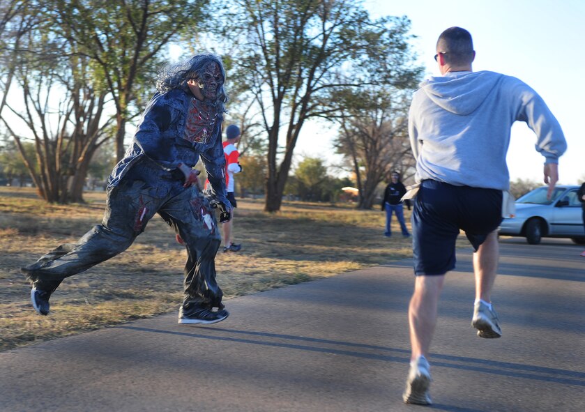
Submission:
[[435,404],[402,404],[411,263],[0,353],[0,411],[585,411],[585,259],[568,241],[501,242],[502,339],[471,328],[471,252],[446,281],[430,358]]

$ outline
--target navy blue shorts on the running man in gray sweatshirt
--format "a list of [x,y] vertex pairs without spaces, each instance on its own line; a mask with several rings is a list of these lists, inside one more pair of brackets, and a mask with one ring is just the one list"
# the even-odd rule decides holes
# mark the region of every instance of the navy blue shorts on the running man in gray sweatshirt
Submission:
[[415,275],[453,270],[459,231],[478,250],[501,223],[501,208],[501,190],[423,181],[411,217]]

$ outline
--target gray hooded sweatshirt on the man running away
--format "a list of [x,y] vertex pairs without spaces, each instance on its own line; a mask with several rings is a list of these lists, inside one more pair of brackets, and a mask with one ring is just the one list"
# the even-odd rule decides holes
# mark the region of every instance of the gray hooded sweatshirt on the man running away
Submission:
[[510,128],[524,121],[536,151],[558,163],[567,143],[559,122],[528,85],[499,73],[455,72],[431,77],[413,95],[409,135],[416,181],[508,190]]

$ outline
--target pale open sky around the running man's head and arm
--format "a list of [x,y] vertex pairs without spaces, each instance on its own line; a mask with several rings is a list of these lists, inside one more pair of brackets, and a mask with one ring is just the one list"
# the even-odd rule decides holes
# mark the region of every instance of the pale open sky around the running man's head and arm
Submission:
[[[411,44],[427,75],[440,75],[433,59],[436,38],[450,26],[473,36],[473,70],[518,77],[545,100],[561,123],[568,150],[559,161],[559,183],[585,180],[585,1],[583,0],[366,0],[372,17],[406,15]],[[299,152],[331,153],[328,136],[301,136]],[[310,145],[307,143],[310,142]],[[316,144],[319,142],[318,144]],[[515,123],[508,151],[510,180],[542,181],[544,158],[535,135]]]

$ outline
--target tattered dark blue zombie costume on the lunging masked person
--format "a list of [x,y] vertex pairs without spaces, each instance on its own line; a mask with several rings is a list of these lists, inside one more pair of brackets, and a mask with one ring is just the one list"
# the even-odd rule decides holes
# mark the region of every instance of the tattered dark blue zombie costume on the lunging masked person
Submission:
[[[222,89],[224,72],[219,59],[209,61],[206,71],[210,64],[215,65],[211,68],[221,75],[216,75],[220,78],[219,86],[213,87],[214,80],[211,86],[204,85],[205,70],[205,73],[184,70],[182,83],[158,91],[149,102],[126,155],[109,177],[102,223],[77,243],[61,245],[21,269],[33,283],[33,292],[36,289],[50,296],[65,277],[123,252],[158,213],[183,238],[188,252],[179,322],[213,323],[181,322],[181,316],[210,311],[213,307],[223,309],[222,291],[215,282],[215,254],[221,238],[213,207],[220,208],[220,220],[229,220],[231,206],[226,198],[221,141],[223,102],[218,104],[208,96],[217,96],[216,89]],[[199,87],[212,89],[211,93],[204,93],[204,100],[195,98],[185,83],[195,76]],[[192,167],[199,158],[210,181],[205,196],[197,185],[191,185],[196,176]]]

